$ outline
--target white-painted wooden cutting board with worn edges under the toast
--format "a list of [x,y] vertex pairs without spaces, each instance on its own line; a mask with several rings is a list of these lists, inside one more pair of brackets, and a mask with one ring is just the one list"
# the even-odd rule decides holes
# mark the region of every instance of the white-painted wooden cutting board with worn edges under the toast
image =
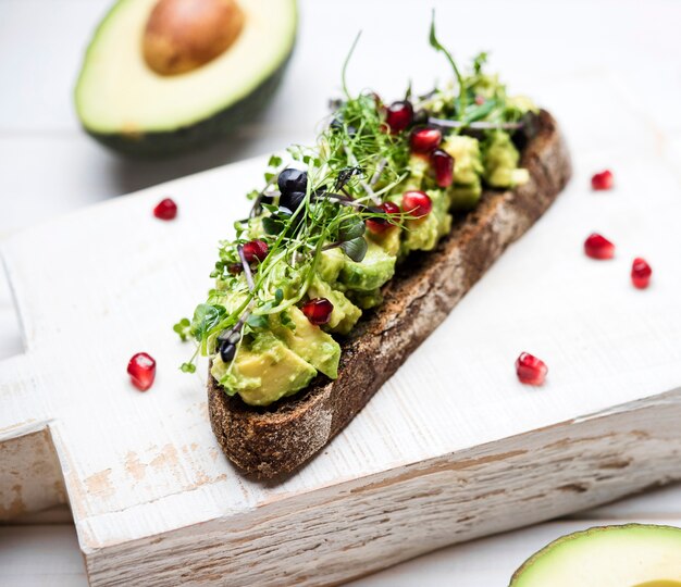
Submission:
[[[626,147],[608,153],[617,189],[598,195],[575,152],[545,217],[276,485],[222,455],[205,364],[182,374],[191,349],[172,332],[264,159],[5,240],[26,352],[0,363],[0,520],[69,500],[92,585],[315,585],[681,478],[679,178]],[[171,223],[151,214],[165,196]],[[592,230],[615,260],[583,255]],[[654,266],[646,291],[629,280],[636,255]],[[548,363],[544,387],[517,382],[523,350]],[[125,372],[138,351],[158,361],[146,394]]]

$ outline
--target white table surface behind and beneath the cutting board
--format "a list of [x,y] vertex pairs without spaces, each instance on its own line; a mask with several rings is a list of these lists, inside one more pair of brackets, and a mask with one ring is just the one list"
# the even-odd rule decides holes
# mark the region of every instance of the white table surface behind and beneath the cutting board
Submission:
[[[224,143],[171,162],[121,160],[78,127],[71,99],[74,79],[108,3],[0,0],[0,235],[106,198],[309,141],[326,114],[327,98],[338,92],[339,65],[358,28],[363,36],[349,71],[354,87],[372,85],[386,98],[397,98],[411,74],[417,87],[425,88],[434,76],[448,73],[435,54],[421,61],[431,5],[438,11],[441,37],[457,55],[491,50],[512,89],[544,98],[549,107],[552,92],[566,79],[615,84],[642,124],[656,129],[660,158],[681,168],[681,2],[674,0],[301,0],[297,49],[271,109]],[[608,152],[622,148],[635,151],[636,145],[614,145],[607,134],[596,134],[587,160],[607,166]],[[681,184],[681,173],[678,177]],[[0,275],[0,359],[20,351],[16,317]],[[356,585],[505,585],[528,555],[567,532],[634,521],[681,525],[681,487],[450,547]],[[67,512],[27,522],[0,527],[0,585],[86,585]]]

